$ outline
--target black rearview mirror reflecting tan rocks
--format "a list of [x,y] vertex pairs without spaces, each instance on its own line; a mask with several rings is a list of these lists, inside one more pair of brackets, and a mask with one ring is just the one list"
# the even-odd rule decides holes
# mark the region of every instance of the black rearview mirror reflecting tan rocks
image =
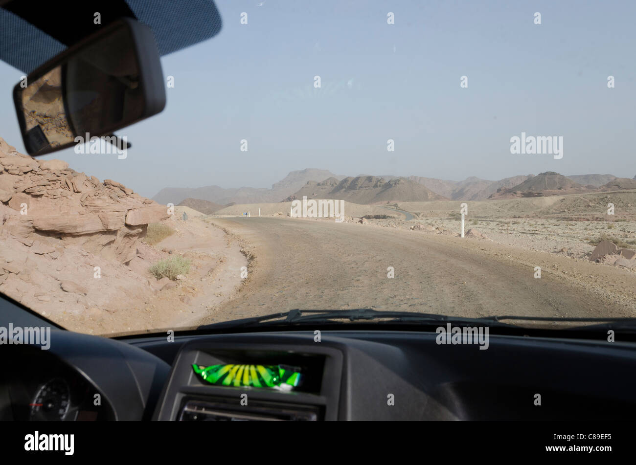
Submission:
[[29,74],[13,101],[29,155],[112,135],[165,107],[155,37],[121,18]]

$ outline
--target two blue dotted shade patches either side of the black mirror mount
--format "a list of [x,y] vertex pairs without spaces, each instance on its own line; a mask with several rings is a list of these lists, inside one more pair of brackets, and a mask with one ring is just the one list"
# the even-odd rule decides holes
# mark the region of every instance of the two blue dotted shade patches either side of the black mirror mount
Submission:
[[[139,22],[149,25],[160,55],[216,36],[221,17],[212,0],[126,0]],[[0,8],[0,60],[29,73],[66,46],[11,11]]]

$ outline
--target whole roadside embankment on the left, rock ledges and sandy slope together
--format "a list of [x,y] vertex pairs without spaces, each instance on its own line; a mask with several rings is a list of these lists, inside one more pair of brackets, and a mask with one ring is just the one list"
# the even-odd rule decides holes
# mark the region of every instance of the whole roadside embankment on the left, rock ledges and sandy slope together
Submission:
[[[158,222],[175,233],[148,245]],[[183,279],[149,273],[176,254],[191,260]],[[0,138],[0,293],[62,327],[112,335],[191,325],[236,291],[246,264],[239,243],[198,212],[171,215],[119,182]]]

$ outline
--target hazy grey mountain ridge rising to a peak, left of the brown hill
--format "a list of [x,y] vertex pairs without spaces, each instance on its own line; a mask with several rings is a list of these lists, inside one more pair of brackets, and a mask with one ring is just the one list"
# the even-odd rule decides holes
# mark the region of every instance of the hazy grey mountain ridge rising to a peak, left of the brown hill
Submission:
[[154,197],[157,203],[177,204],[184,199],[202,199],[224,205],[226,203],[273,203],[285,196],[293,194],[307,183],[315,179],[325,179],[335,177],[342,179],[328,170],[317,170],[307,168],[305,170],[290,172],[284,179],[272,184],[272,189],[264,187],[230,187],[224,188],[218,185],[208,185],[205,187],[165,187]]

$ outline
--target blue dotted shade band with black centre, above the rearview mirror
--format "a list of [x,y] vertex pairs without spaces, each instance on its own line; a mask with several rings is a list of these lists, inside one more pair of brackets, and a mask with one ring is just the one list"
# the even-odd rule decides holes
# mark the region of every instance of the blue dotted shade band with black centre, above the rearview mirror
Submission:
[[[221,30],[221,16],[212,0],[99,0],[73,8],[41,0],[0,4],[0,60],[25,74],[120,17],[148,25],[162,56]],[[95,24],[95,13],[100,24]]]

